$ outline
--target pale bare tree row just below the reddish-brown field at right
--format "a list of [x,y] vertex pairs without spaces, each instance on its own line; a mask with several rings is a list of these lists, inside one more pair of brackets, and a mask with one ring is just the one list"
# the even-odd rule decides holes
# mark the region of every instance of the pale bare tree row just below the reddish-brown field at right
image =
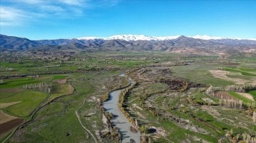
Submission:
[[242,101],[235,101],[233,99],[220,99],[220,105],[228,108],[242,109]]

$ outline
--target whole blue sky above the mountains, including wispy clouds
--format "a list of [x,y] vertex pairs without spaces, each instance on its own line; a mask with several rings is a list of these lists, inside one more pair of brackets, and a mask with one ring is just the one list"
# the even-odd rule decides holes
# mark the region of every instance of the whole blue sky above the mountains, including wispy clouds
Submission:
[[256,1],[1,0],[1,34],[31,40],[118,34],[256,38]]

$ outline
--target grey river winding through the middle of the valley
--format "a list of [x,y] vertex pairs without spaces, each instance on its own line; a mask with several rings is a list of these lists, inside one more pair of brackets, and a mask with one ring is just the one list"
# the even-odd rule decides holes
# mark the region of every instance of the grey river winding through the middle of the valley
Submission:
[[[124,74],[120,74],[120,76],[124,76]],[[134,83],[132,79],[129,79],[130,85]],[[118,98],[119,93],[124,89],[119,89],[117,91],[112,91],[110,93],[110,99],[104,103],[102,103],[102,106],[106,108],[107,112],[113,113],[116,115],[116,117],[112,120],[113,124],[116,125],[119,132],[122,135],[122,142],[130,142],[130,139],[134,139],[135,142],[140,142],[140,133],[139,132],[132,132],[130,130],[130,127],[132,126],[132,123],[125,118],[125,116],[122,114],[122,112],[118,108]]]

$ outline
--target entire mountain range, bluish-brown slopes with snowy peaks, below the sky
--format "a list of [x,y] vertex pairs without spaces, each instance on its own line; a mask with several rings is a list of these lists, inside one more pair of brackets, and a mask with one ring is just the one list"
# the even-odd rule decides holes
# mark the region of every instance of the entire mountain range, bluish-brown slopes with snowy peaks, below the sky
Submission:
[[[201,38],[201,39],[200,39]],[[29,40],[0,35],[0,51],[164,51],[197,55],[256,55],[256,40],[208,36],[114,35],[109,38]]]

